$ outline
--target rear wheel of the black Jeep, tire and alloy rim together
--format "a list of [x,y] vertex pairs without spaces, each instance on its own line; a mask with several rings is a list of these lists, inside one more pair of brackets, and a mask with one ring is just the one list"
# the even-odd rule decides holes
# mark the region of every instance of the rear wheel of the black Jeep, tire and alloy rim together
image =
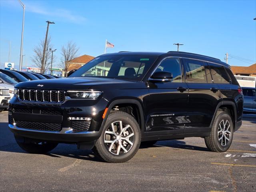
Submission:
[[213,152],[225,152],[232,143],[234,125],[230,115],[223,111],[218,111],[212,125],[210,136],[204,138],[208,149]]

